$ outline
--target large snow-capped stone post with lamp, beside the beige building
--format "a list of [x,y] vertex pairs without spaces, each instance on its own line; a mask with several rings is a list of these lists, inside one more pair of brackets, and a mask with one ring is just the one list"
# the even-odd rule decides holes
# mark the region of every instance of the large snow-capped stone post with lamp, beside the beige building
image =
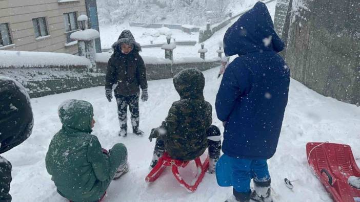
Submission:
[[86,29],[86,21],[88,17],[86,15],[80,15],[77,21],[81,27],[81,31],[74,32],[70,35],[72,40],[77,40],[78,55],[88,58],[91,62],[91,68],[96,68],[95,63],[95,40],[100,37],[97,30]]

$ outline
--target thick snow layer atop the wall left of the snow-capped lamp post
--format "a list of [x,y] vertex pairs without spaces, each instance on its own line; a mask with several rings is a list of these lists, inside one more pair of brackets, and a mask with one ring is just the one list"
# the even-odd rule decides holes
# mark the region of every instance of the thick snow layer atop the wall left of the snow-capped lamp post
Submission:
[[43,68],[48,66],[90,65],[85,57],[66,53],[0,51],[0,68]]

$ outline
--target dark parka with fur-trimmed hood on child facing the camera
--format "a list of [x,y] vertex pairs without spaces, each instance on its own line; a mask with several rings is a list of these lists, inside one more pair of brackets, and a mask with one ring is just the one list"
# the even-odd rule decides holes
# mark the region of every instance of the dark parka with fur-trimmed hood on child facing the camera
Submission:
[[[130,53],[121,51],[123,43],[131,45]],[[124,30],[119,39],[112,45],[114,53],[108,61],[105,88],[112,89],[116,95],[131,96],[148,87],[146,68],[143,58],[139,55],[141,47],[135,42],[129,30]]]

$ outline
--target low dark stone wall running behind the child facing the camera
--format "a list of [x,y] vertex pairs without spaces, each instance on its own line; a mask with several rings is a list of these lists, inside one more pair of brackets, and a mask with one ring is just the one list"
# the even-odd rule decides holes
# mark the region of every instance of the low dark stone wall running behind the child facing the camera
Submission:
[[[197,68],[205,71],[219,66],[219,61],[194,63],[146,64],[148,80],[172,78],[181,70]],[[106,62],[97,62],[96,69],[87,65],[0,68],[0,75],[11,77],[24,85],[31,98],[102,86],[105,82]]]

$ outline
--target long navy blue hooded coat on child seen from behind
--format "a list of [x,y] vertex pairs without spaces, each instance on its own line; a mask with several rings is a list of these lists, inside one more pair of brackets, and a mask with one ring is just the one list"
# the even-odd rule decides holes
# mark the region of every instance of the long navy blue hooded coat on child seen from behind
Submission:
[[270,159],[288,102],[290,71],[277,52],[284,43],[266,5],[257,2],[225,33],[228,66],[216,95],[216,113],[227,121],[223,152],[233,158]]

